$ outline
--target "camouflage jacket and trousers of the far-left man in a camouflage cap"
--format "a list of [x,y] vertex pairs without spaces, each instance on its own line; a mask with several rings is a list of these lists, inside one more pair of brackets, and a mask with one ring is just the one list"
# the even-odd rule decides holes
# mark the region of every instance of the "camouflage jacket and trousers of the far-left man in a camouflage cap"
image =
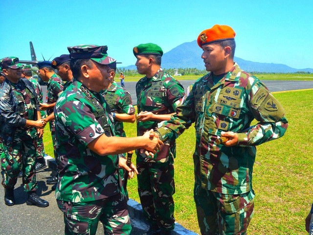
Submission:
[[23,172],[26,192],[37,188],[35,160],[37,130],[24,127],[26,119],[37,120],[39,100],[33,85],[21,78],[17,84],[6,80],[0,89],[1,137],[5,151],[4,188],[13,188]]

